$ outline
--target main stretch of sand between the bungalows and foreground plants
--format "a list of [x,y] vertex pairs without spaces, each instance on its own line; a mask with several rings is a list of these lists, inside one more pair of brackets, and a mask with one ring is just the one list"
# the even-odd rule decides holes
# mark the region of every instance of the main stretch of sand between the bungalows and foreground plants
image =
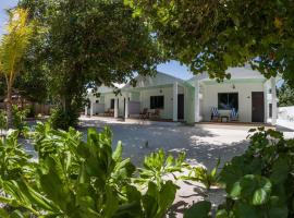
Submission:
[[177,155],[186,153],[189,164],[201,164],[211,169],[218,158],[222,162],[241,155],[247,148],[247,131],[222,130],[192,126],[160,126],[128,123],[108,123],[102,121],[84,121],[79,131],[86,132],[89,126],[101,131],[108,125],[113,131],[113,146],[119,141],[124,145],[123,156],[140,166],[145,155],[159,148]]

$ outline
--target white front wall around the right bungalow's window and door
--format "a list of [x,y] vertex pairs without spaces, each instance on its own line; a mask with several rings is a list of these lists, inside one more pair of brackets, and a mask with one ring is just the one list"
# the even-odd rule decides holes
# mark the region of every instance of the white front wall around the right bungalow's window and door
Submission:
[[[233,88],[233,84],[235,88]],[[203,86],[201,117],[210,121],[211,108],[218,107],[219,93],[238,93],[238,118],[241,122],[252,122],[252,92],[264,92],[264,84],[258,83],[220,83]],[[230,114],[228,110],[219,110],[221,114]]]

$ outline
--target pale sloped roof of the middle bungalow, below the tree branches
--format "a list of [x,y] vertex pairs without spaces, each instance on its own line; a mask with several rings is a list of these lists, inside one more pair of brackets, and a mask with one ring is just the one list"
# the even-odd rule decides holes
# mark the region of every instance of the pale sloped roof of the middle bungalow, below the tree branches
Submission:
[[[137,82],[135,88],[171,85],[175,82],[184,83],[184,81],[181,78],[177,78],[177,77],[174,77],[172,75],[168,75],[161,72],[158,72],[156,76],[138,75],[135,80]],[[134,88],[134,87],[130,83],[127,83],[122,89],[127,89],[127,88]]]

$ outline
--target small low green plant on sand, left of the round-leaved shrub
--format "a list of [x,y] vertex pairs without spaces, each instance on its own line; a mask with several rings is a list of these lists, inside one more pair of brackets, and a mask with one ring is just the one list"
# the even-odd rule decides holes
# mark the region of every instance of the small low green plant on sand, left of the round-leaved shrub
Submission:
[[220,159],[217,162],[217,166],[209,171],[207,168],[200,167],[191,167],[187,168],[191,170],[188,177],[183,177],[183,179],[192,180],[196,182],[200,182],[205,185],[207,190],[210,189],[211,185],[216,185],[219,180],[218,168],[220,165]]

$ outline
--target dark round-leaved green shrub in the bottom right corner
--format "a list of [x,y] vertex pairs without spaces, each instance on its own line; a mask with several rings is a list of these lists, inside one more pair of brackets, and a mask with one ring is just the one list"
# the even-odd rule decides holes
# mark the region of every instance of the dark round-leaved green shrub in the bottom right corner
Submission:
[[[294,217],[294,140],[264,129],[249,138],[246,153],[226,162],[220,172],[228,197],[217,218]],[[195,204],[185,218],[210,217],[210,206]]]

